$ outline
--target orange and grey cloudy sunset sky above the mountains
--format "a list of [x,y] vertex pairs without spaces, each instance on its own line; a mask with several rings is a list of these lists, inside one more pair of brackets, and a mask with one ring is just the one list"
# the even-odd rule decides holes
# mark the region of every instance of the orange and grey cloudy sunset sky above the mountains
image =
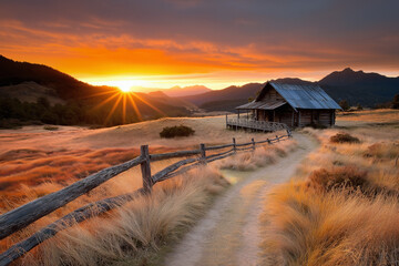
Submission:
[[398,0],[0,0],[0,54],[122,88],[399,75]]

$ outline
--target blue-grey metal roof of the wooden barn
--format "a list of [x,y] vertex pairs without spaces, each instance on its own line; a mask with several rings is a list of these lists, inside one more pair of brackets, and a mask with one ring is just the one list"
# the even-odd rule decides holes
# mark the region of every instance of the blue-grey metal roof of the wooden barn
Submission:
[[[319,85],[316,84],[282,84],[275,82],[268,82],[267,84],[270,84],[295,110],[341,109]],[[267,84],[263,90],[267,88]],[[259,102],[258,98],[255,100],[256,102]]]

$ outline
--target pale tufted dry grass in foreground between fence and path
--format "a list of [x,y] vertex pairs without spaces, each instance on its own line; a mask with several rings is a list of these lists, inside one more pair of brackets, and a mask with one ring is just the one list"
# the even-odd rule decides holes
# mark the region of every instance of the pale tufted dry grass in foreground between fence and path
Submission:
[[25,265],[156,265],[165,242],[195,223],[213,195],[228,185],[206,167],[156,185],[142,196],[99,218],[63,231],[43,243]]

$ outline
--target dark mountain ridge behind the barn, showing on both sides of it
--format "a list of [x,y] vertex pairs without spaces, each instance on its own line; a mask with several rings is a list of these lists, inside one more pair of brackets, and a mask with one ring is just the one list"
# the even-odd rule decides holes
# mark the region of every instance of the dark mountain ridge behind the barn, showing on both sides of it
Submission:
[[[296,78],[285,78],[272,80],[273,82],[290,84],[314,83]],[[399,78],[388,78],[377,73],[365,73],[345,69],[336,71],[320,81],[319,84],[335,101],[349,101],[356,105],[375,106],[378,103],[386,103],[399,93]],[[196,96],[184,98],[207,111],[233,111],[235,106],[247,102],[248,98],[254,98],[263,84],[248,83],[243,86],[228,86],[219,91],[212,91]]]

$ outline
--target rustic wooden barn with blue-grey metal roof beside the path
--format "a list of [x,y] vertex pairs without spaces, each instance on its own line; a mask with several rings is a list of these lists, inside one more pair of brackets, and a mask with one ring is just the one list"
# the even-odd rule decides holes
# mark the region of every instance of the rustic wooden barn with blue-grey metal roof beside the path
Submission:
[[237,106],[255,121],[284,123],[289,127],[335,124],[341,109],[319,85],[267,82],[256,99]]

